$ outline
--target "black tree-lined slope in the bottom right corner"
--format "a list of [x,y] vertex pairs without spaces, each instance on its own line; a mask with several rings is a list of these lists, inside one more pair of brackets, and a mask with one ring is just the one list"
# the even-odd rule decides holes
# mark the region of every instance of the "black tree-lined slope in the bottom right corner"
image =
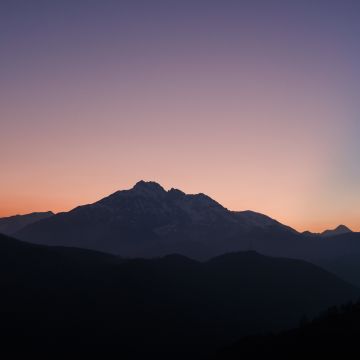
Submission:
[[299,328],[276,335],[244,337],[217,353],[214,359],[358,358],[360,303],[333,307]]

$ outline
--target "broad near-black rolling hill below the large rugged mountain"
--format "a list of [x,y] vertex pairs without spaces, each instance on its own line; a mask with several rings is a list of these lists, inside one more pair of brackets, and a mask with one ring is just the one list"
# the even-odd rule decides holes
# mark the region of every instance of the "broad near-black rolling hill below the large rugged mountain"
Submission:
[[309,263],[255,252],[124,260],[5,236],[0,286],[2,350],[141,359],[199,359],[359,295]]

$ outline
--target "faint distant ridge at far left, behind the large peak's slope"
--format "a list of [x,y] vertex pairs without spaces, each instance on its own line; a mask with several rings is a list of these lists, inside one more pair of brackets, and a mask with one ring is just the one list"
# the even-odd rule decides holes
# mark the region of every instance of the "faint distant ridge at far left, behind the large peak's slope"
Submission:
[[39,220],[48,219],[53,215],[53,212],[47,211],[0,218],[0,233],[7,235],[15,234],[27,225],[33,224]]

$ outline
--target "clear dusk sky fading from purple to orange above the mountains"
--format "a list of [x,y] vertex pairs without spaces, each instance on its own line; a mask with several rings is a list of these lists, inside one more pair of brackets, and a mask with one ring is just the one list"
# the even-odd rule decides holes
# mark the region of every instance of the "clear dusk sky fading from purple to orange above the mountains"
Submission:
[[360,231],[360,1],[1,0],[0,216],[140,179]]

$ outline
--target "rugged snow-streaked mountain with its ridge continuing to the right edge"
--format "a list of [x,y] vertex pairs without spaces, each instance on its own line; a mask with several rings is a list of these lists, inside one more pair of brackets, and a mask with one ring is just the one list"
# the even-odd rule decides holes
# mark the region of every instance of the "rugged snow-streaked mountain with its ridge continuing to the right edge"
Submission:
[[138,182],[93,204],[29,224],[13,234],[51,246],[72,246],[122,257],[177,253],[204,260],[234,251],[311,261],[360,284],[360,233],[344,225],[299,233],[252,211],[230,211],[205,194],[166,191]]

